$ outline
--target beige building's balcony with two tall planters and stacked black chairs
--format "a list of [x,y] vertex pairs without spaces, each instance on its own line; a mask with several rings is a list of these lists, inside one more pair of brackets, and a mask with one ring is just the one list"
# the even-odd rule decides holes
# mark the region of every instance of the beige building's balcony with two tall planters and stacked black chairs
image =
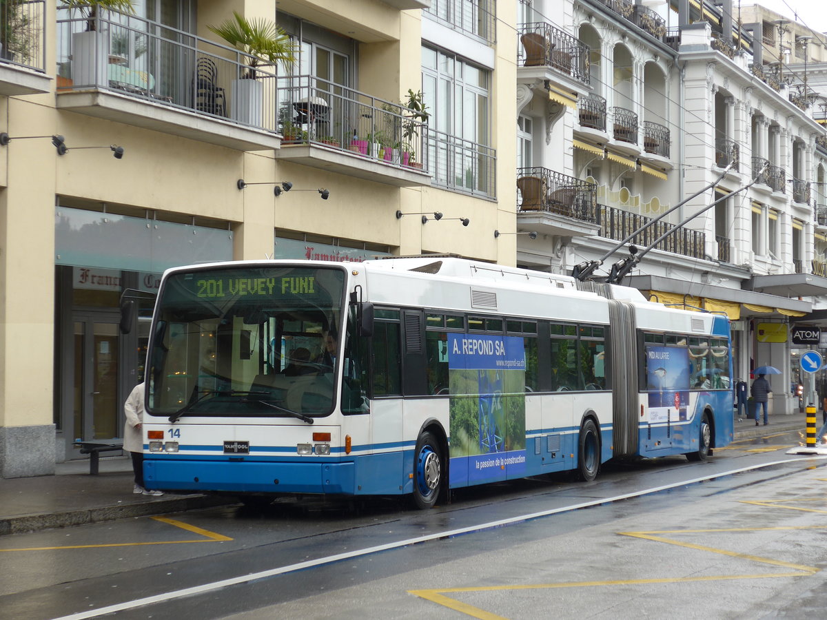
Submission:
[[57,107],[237,150],[278,147],[275,73],[251,56],[141,17],[93,21],[57,21]]

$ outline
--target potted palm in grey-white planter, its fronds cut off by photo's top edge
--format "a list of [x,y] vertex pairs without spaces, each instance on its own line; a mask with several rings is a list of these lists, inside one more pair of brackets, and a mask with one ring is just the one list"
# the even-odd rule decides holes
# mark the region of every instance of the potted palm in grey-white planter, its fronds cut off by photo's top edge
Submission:
[[72,81],[81,86],[108,83],[109,37],[105,28],[98,29],[98,14],[116,11],[135,14],[132,0],[62,0],[60,8],[80,12],[86,30],[72,35]]

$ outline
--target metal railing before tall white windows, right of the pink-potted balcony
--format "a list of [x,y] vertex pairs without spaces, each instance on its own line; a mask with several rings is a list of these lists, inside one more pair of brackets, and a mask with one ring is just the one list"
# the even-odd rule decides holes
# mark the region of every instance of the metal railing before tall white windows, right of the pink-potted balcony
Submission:
[[430,128],[426,142],[432,184],[453,192],[496,198],[495,149]]

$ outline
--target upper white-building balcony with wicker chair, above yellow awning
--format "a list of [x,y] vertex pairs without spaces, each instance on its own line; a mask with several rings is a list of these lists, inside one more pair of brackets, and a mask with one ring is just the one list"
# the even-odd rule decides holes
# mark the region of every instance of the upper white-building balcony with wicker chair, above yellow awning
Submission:
[[523,67],[550,67],[577,81],[589,83],[589,46],[544,21],[519,28],[517,57]]

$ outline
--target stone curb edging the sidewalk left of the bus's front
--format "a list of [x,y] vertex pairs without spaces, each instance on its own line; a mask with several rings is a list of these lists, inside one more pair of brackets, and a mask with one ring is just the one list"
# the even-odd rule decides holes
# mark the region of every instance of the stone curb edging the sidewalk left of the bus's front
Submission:
[[71,527],[115,521],[130,517],[153,517],[161,514],[180,513],[198,508],[213,508],[237,503],[235,498],[212,495],[187,495],[176,498],[153,499],[150,502],[131,503],[121,506],[101,506],[68,510],[62,513],[26,514],[19,517],[0,517],[0,536],[41,532],[53,527]]

